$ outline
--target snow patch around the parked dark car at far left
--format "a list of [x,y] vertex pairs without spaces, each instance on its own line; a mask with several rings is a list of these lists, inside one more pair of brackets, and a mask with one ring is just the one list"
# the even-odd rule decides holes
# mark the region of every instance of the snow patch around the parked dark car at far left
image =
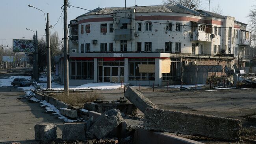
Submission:
[[[16,78],[24,78],[24,79],[30,80],[31,76],[10,76],[10,77],[0,79],[0,87],[2,87],[2,86],[12,86],[11,82],[13,82],[13,79],[16,79]],[[14,87],[22,88],[23,90],[30,90],[31,88],[32,89],[34,88],[33,86],[23,86],[23,87],[14,86]]]

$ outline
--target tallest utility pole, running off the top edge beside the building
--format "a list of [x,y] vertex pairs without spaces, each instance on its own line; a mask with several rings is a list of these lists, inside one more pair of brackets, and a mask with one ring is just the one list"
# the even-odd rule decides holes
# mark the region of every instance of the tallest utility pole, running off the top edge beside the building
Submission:
[[69,96],[69,60],[68,60],[68,26],[67,26],[67,5],[68,0],[64,0],[64,92]]

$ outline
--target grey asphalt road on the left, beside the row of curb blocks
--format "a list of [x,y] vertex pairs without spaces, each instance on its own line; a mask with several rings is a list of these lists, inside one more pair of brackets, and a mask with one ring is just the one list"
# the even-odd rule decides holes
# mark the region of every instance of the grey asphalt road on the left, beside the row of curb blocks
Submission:
[[[0,74],[1,77],[15,74],[26,74],[26,70]],[[39,103],[22,99],[25,92],[19,87],[0,87],[0,144],[20,142],[22,144],[38,143],[34,140],[34,126],[38,123],[53,122],[58,124],[57,135],[61,137],[63,120],[57,116],[45,113]]]

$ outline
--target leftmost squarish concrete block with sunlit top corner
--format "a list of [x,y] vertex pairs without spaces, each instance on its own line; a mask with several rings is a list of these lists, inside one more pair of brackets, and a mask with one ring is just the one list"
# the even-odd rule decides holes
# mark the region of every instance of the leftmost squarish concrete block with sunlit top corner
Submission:
[[35,140],[51,141],[57,139],[57,124],[43,123],[35,125]]

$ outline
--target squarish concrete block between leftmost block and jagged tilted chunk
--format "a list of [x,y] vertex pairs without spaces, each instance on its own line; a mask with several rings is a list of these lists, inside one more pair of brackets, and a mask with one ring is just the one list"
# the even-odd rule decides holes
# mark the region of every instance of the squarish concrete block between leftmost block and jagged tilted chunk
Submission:
[[86,140],[86,123],[65,123],[63,125],[63,140]]

